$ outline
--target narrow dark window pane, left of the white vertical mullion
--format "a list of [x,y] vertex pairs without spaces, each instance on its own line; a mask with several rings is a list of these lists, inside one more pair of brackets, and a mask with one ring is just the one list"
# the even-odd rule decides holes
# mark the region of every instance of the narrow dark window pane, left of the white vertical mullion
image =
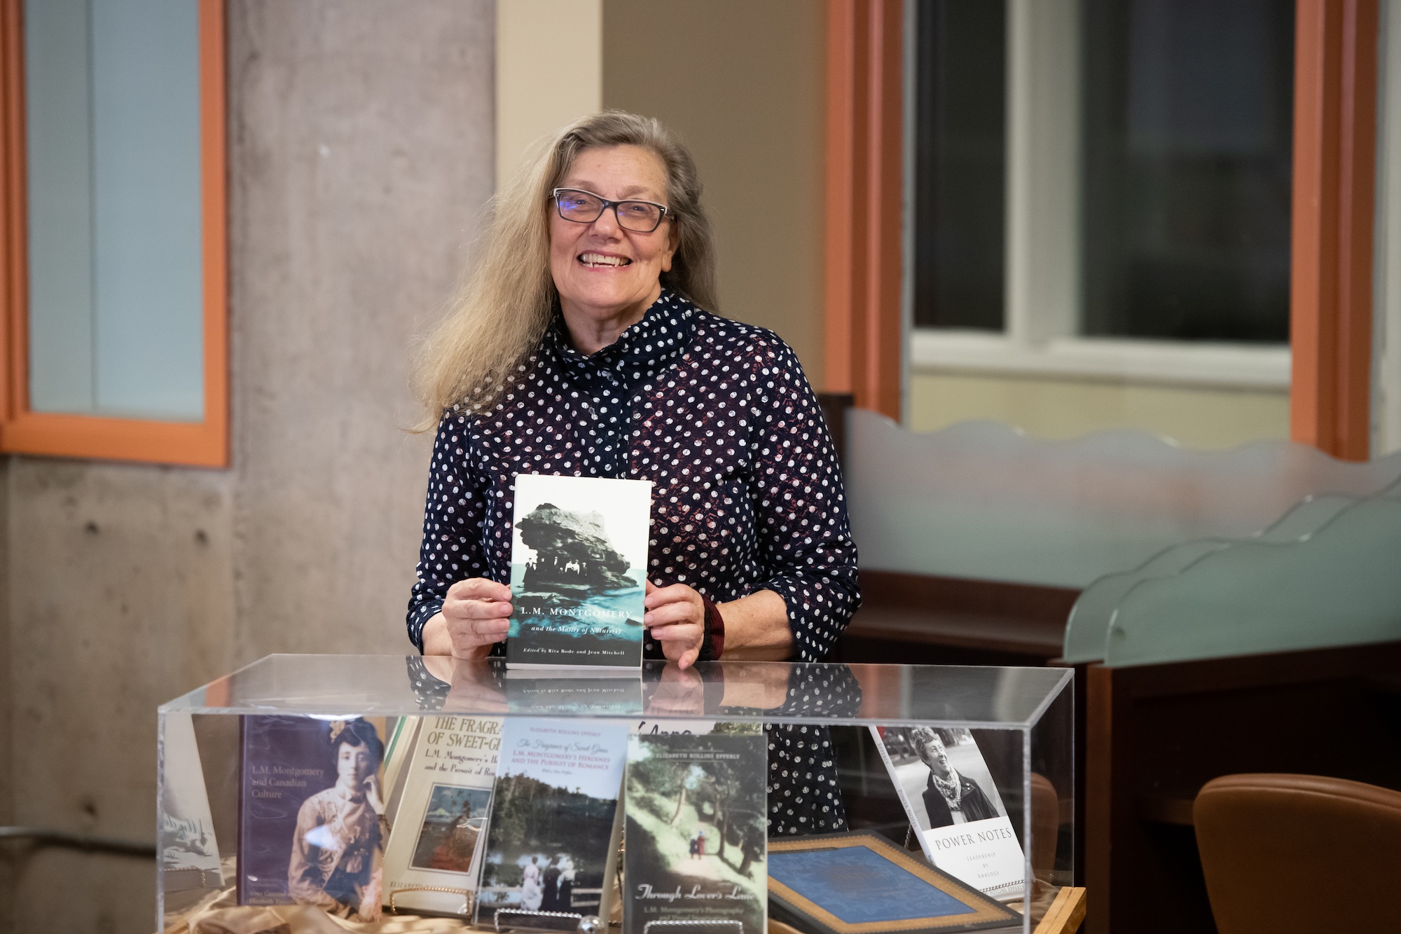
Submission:
[[1006,8],[918,7],[916,327],[1002,330]]

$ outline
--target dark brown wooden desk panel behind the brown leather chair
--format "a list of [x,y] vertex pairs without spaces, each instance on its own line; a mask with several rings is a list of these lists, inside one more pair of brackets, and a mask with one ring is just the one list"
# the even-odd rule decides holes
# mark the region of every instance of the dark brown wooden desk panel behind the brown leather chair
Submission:
[[1093,934],[1213,931],[1192,804],[1233,773],[1401,788],[1401,642],[1086,670]]

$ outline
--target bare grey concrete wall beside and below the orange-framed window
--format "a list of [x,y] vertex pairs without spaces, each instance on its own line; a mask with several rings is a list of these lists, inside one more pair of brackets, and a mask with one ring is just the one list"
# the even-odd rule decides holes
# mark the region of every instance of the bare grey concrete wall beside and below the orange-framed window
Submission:
[[[0,467],[0,816],[151,840],[157,704],[269,652],[409,651],[409,346],[492,194],[493,13],[230,0],[233,467]],[[15,874],[15,931],[154,927],[149,861]]]

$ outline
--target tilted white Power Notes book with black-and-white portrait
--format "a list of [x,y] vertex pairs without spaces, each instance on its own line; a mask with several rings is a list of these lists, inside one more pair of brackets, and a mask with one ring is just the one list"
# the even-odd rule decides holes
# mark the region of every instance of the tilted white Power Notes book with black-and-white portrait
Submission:
[[1026,858],[998,785],[967,729],[871,726],[925,857],[995,899],[1020,899]]

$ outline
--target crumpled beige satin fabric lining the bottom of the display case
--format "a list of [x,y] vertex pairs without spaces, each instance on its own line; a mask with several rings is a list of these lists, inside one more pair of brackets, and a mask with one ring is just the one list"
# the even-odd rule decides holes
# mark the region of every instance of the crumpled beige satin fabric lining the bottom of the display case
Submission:
[[349,921],[314,905],[234,905],[234,889],[226,889],[171,919],[163,934],[439,934],[468,927],[465,920],[450,917],[395,914],[380,921]]

